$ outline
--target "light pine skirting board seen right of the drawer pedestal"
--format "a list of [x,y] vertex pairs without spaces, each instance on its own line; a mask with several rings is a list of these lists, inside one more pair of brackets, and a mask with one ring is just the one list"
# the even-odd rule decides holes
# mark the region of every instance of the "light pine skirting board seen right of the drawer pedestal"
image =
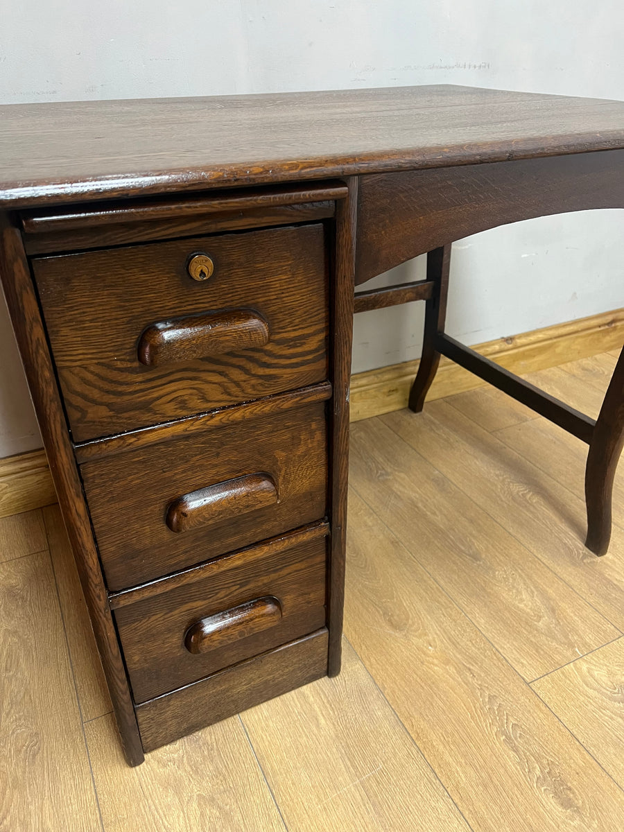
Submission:
[[[522,375],[619,349],[622,344],[624,309],[487,341],[473,349],[512,373]],[[418,361],[405,361],[352,376],[351,421],[406,408],[417,370]],[[458,364],[442,359],[427,400],[443,399],[453,393],[483,387],[483,384],[481,379]]]

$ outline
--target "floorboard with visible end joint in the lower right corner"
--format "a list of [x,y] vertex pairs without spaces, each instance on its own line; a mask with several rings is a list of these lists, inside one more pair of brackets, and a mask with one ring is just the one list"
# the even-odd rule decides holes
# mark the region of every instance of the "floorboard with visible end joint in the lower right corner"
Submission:
[[532,688],[624,787],[624,638],[543,676]]

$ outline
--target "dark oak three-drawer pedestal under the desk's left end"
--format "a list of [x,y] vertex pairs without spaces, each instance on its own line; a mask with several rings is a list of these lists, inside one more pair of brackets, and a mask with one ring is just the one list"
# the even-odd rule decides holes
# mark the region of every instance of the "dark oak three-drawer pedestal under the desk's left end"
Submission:
[[216,191],[2,227],[133,765],[339,670],[348,368],[329,343],[351,314],[334,249],[346,196],[339,181]]

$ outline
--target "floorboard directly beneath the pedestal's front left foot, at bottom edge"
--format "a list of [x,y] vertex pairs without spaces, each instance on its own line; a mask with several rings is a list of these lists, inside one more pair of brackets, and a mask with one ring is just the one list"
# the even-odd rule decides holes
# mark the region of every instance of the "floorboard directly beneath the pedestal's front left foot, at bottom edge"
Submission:
[[283,832],[238,717],[146,755],[131,769],[112,716],[87,723],[106,832]]

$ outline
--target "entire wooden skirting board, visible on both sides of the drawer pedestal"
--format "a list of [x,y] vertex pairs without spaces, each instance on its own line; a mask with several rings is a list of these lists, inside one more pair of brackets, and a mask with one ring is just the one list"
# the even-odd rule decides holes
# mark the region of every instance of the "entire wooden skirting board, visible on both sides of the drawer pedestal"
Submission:
[[[488,341],[474,349],[513,373],[524,374],[619,349],[622,344],[624,309]],[[406,361],[352,376],[351,421],[407,407],[409,388],[417,370],[418,361]],[[443,399],[483,384],[457,364],[442,359],[427,398]],[[0,459],[0,518],[56,501],[43,451]]]

